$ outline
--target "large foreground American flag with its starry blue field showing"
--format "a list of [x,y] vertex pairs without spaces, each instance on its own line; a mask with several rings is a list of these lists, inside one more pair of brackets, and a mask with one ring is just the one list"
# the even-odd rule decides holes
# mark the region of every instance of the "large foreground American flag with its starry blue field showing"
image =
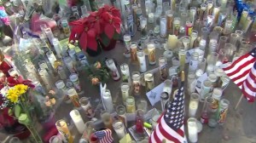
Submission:
[[167,106],[166,112],[160,117],[159,123],[150,136],[149,143],[184,143],[184,95],[183,86],[178,89],[174,100]]

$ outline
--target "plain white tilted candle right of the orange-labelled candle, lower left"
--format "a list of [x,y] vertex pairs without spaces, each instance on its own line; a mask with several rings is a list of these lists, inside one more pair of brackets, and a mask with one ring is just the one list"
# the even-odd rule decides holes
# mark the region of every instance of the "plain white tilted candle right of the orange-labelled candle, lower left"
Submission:
[[80,134],[84,133],[85,130],[85,124],[83,121],[83,118],[81,117],[78,110],[73,110],[69,113],[70,117],[73,120],[73,123],[75,124],[76,128],[79,130]]

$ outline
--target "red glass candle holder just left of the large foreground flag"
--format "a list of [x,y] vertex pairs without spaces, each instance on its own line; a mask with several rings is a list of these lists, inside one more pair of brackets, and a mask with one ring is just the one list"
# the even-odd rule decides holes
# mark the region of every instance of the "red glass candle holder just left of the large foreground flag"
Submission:
[[136,111],[136,124],[135,124],[137,134],[144,133],[143,123],[144,123],[144,112],[143,110],[138,109]]

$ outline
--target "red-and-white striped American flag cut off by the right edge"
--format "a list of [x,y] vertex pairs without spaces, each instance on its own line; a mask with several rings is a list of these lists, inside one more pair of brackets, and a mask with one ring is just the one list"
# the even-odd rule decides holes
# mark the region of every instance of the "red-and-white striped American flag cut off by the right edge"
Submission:
[[242,55],[223,70],[241,89],[242,94],[252,102],[256,96],[256,48]]

